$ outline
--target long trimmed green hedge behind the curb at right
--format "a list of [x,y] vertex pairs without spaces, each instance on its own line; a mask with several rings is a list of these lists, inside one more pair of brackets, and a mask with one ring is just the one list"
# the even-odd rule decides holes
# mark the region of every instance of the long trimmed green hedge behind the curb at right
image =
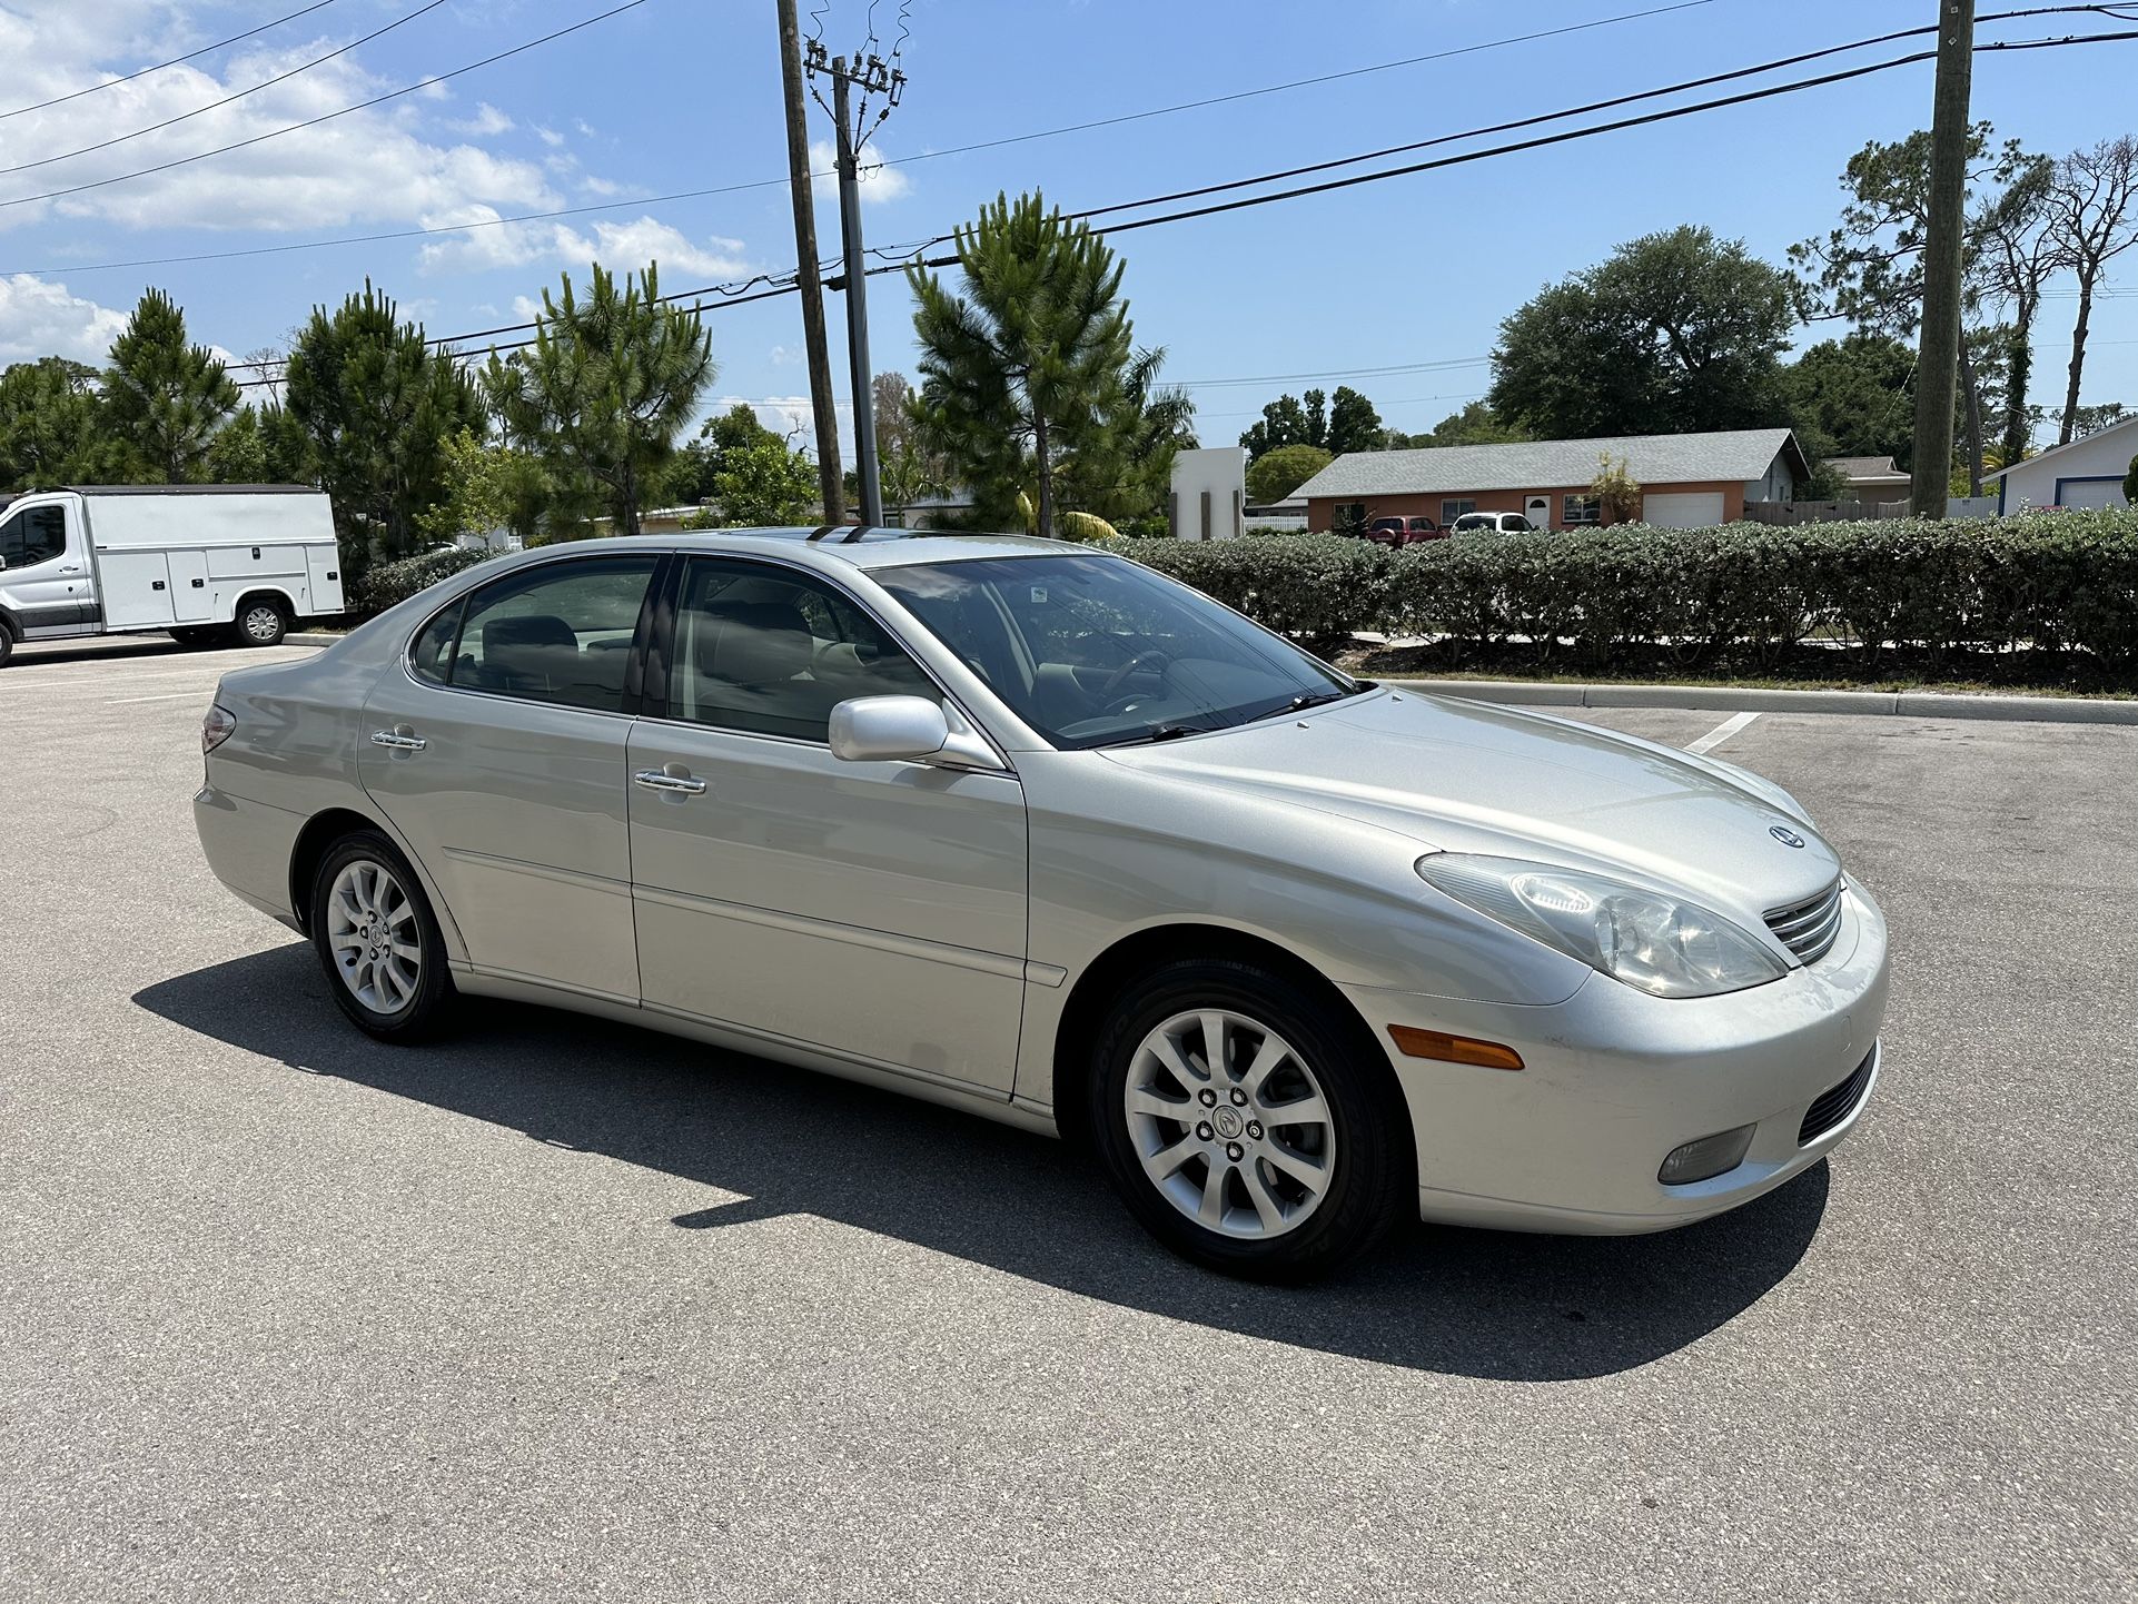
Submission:
[[1137,541],[1140,562],[1291,635],[1527,639],[1537,661],[1659,646],[1779,659],[1811,635],[1881,648],[2031,642],[2138,657],[2138,511],[1847,524],[1623,524],[1390,550],[1341,535]]

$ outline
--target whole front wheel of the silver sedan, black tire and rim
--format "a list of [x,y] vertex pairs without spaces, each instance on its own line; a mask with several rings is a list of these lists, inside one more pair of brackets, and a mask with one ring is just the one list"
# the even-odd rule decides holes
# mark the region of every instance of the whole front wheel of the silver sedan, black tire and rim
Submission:
[[[1225,1042],[1221,1080],[1204,1074],[1206,1016]],[[1281,973],[1169,962],[1114,1001],[1093,1048],[1086,1112],[1105,1176],[1182,1258],[1257,1281],[1326,1275],[1417,1210],[1409,1119],[1373,1046]],[[1319,1119],[1270,1119],[1287,1108]]]

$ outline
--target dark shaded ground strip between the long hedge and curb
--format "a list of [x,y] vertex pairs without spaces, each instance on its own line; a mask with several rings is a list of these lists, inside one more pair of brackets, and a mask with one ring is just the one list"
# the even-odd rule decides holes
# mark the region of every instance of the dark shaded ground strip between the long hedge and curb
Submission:
[[1854,659],[1830,646],[1796,646],[1772,661],[1687,665],[1670,652],[1616,652],[1584,663],[1574,652],[1537,661],[1533,646],[1362,646],[1345,642],[1332,661],[1370,678],[1533,680],[1539,684],[1704,684],[1762,691],[1937,691],[1946,695],[2138,697],[2138,669],[2104,667],[2082,652],[1879,650]]

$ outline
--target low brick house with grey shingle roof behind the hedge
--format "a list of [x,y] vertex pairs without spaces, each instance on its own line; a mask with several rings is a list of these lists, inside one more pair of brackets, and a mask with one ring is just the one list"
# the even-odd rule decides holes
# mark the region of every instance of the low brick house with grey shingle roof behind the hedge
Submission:
[[1291,492],[1306,528],[1364,518],[1527,513],[1537,528],[1601,522],[1589,485],[1604,458],[1625,462],[1642,488],[1642,522],[1704,528],[1745,515],[1747,500],[1790,500],[1811,477],[1790,430],[1713,434],[1616,434],[1595,441],[1439,445],[1415,451],[1349,451]]

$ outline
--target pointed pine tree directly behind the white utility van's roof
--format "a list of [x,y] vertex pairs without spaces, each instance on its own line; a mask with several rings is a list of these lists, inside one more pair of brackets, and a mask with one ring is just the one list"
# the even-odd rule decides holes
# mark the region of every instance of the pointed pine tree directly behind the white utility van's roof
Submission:
[[192,483],[207,445],[237,406],[237,385],[205,346],[186,342],[186,314],[160,289],[141,295],[105,370],[105,428],[137,483]]

